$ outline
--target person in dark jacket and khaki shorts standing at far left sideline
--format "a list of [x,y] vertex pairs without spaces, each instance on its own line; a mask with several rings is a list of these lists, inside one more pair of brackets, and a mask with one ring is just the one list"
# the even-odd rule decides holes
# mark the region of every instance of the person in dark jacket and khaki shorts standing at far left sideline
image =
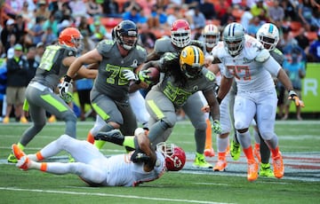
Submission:
[[7,88],[5,90],[7,107],[3,122],[10,122],[10,114],[14,106],[16,119],[27,123],[28,120],[22,106],[28,82],[28,77],[26,77],[28,75],[28,61],[23,55],[23,48],[19,43],[14,45],[14,56],[7,60],[7,70]]

